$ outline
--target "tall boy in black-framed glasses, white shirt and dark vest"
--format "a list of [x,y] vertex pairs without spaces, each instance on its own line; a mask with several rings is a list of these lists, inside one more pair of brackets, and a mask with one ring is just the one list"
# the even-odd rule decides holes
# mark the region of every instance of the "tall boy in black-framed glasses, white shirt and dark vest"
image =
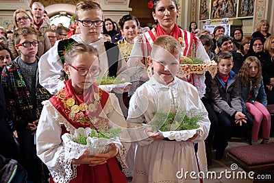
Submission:
[[[127,69],[127,63],[121,57],[119,48],[105,41],[103,34],[103,10],[95,1],[79,1],[75,10],[75,25],[81,34],[75,34],[67,40],[60,40],[45,53],[38,64],[40,84],[47,88],[51,94],[57,93],[64,87],[64,52],[73,42],[85,42],[95,47],[99,52],[100,68],[99,77],[118,76]],[[119,77],[126,77],[119,75]]]

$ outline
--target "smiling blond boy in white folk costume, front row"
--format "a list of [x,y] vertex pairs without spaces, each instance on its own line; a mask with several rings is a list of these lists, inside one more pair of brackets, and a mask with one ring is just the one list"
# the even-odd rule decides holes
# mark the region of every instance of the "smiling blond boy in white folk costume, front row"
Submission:
[[[172,36],[159,36],[153,43],[149,66],[151,79],[137,88],[129,102],[127,122],[132,141],[138,144],[132,182],[179,182],[177,171],[199,172],[194,144],[208,136],[210,121],[195,86],[175,77],[181,45]],[[195,130],[153,132],[154,112],[192,111],[201,114]],[[131,164],[132,165],[132,164]],[[169,169],[169,171],[166,171]],[[187,182],[199,182],[189,176]]]

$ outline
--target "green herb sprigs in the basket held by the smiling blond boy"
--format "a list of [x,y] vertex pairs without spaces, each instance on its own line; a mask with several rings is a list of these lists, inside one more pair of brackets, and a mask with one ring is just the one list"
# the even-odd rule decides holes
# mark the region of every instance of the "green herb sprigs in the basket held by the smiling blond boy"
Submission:
[[153,121],[150,125],[153,131],[179,131],[179,130],[194,130],[199,128],[198,122],[203,119],[201,114],[194,115],[193,111],[181,112],[153,112]]

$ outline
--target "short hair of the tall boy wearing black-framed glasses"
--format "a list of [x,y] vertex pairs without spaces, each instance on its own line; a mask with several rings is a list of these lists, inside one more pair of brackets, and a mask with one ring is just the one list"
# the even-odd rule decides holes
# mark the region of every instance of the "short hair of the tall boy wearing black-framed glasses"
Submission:
[[[103,14],[101,5],[99,5],[99,3],[97,3],[97,1],[92,1],[92,0],[83,0],[83,1],[79,1],[77,3],[76,9],[75,9],[75,20],[78,20],[79,10],[100,10]],[[102,19],[103,19],[103,17],[102,17]]]

